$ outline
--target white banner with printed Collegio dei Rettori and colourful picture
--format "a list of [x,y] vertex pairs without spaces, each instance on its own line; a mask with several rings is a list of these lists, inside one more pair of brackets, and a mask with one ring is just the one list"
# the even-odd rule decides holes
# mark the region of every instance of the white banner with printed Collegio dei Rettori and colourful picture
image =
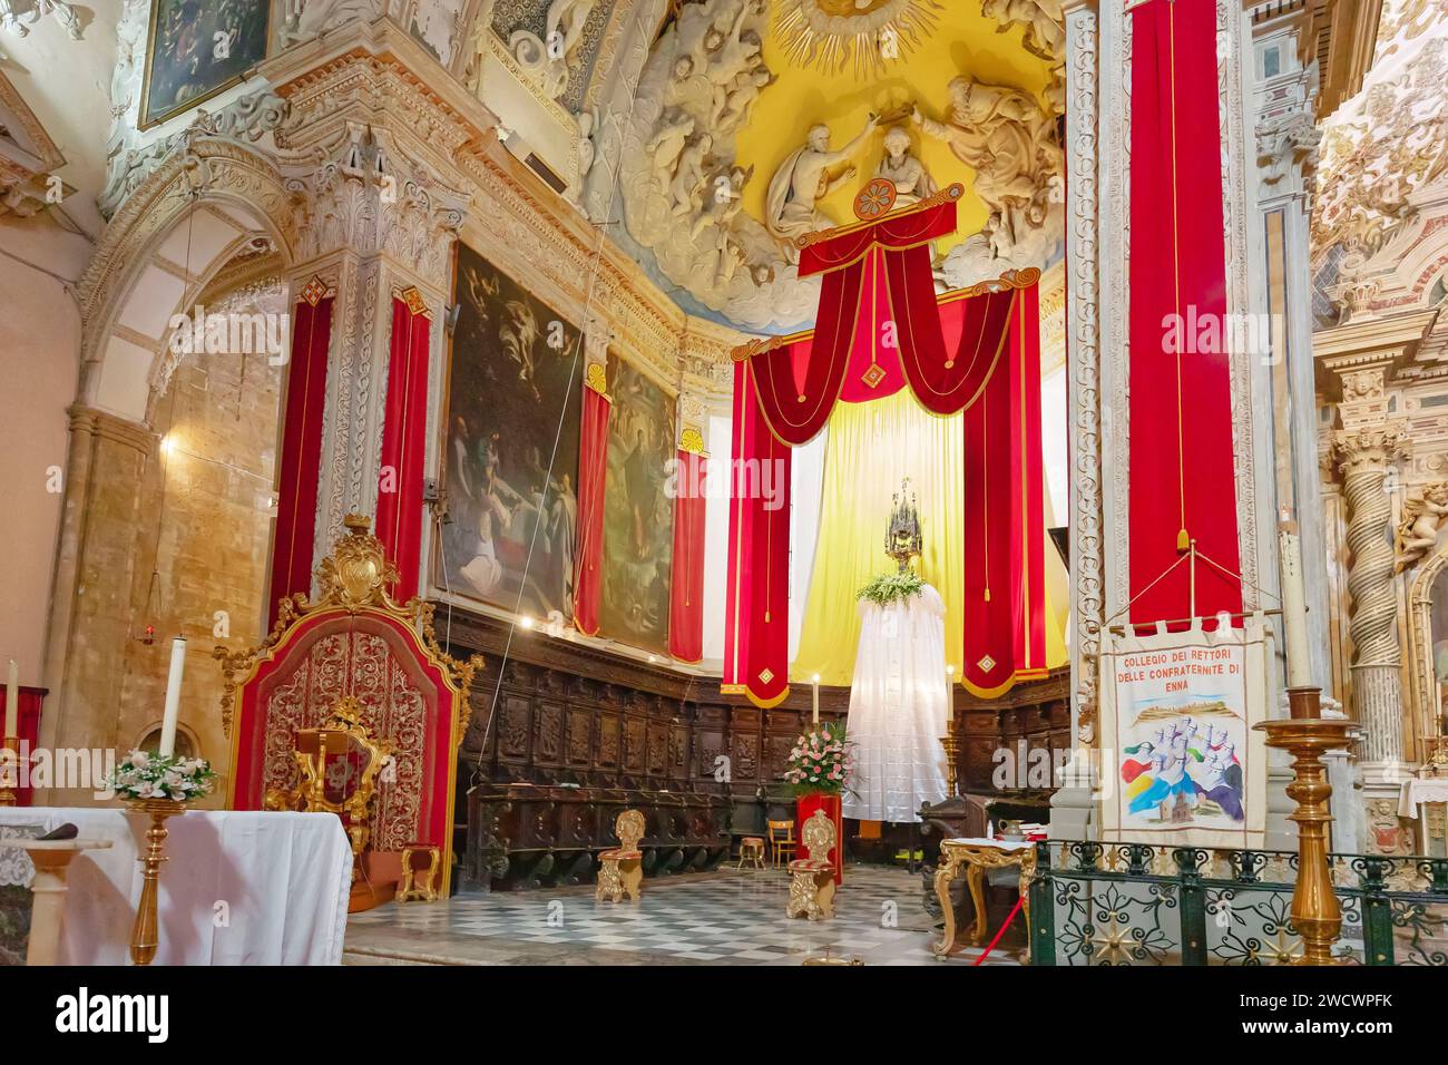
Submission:
[[1102,633],[1102,839],[1254,849],[1267,829],[1271,629]]

